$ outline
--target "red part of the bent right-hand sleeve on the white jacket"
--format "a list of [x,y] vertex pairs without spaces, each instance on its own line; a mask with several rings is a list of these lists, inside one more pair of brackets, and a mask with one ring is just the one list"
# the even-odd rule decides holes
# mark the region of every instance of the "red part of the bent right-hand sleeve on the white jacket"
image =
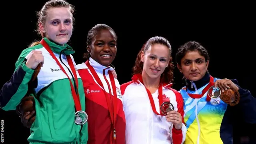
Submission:
[[176,96],[178,112],[182,116],[182,123],[183,123],[182,124],[182,128],[180,130],[177,130],[173,126],[173,128],[172,128],[172,140],[173,140],[173,144],[182,144],[182,142],[183,142],[183,132],[182,132],[182,129],[185,129],[185,128],[183,128],[185,126],[185,124],[184,124],[184,110],[183,110],[184,102],[183,102],[181,94],[178,91],[176,91],[174,89],[172,89],[172,91],[174,92],[174,94]]

